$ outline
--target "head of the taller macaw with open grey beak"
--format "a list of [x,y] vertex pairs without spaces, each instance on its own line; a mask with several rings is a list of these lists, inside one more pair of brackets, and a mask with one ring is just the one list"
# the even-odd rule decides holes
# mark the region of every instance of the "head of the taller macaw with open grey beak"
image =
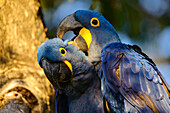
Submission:
[[78,10],[65,17],[58,27],[57,37],[62,38],[67,31],[76,35],[69,43],[85,52],[91,62],[100,61],[101,50],[108,43],[120,42],[114,27],[95,11]]

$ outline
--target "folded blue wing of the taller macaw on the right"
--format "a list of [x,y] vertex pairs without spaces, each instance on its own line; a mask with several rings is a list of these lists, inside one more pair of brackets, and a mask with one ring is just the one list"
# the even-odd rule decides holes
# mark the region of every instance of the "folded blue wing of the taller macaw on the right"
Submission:
[[101,60],[107,87],[120,92],[139,112],[170,110],[169,86],[139,47],[111,43],[103,49]]

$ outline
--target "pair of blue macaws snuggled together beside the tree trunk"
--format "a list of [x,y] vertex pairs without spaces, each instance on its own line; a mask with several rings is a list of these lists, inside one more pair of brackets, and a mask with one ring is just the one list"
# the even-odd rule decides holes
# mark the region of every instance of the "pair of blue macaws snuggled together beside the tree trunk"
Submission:
[[[59,39],[67,31],[76,36]],[[57,113],[170,112],[170,88],[155,63],[138,46],[121,43],[101,14],[76,11],[57,37],[37,53],[56,90]]]

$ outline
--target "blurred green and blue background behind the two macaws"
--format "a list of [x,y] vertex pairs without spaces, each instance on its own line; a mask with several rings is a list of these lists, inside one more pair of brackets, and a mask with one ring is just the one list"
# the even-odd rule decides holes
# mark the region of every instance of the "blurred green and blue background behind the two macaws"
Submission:
[[[100,12],[118,31],[122,42],[136,44],[157,64],[170,84],[170,0],[40,0],[47,37],[79,9]],[[71,34],[69,34],[71,35]]]

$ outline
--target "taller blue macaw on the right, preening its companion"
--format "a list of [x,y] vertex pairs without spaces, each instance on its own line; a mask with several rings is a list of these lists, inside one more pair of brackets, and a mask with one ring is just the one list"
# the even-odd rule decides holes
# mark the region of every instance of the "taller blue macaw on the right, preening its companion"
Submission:
[[78,10],[60,23],[57,37],[76,35],[77,46],[96,68],[107,111],[169,112],[170,88],[155,63],[136,45],[123,44],[114,27],[98,12]]

